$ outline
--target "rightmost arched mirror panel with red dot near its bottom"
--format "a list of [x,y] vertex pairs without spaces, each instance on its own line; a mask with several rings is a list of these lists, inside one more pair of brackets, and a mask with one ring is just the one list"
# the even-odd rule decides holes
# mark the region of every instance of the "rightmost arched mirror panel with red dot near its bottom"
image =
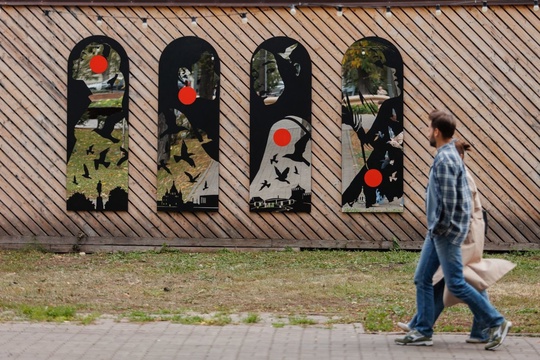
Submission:
[[342,210],[403,211],[403,60],[390,42],[355,42],[342,62]]

